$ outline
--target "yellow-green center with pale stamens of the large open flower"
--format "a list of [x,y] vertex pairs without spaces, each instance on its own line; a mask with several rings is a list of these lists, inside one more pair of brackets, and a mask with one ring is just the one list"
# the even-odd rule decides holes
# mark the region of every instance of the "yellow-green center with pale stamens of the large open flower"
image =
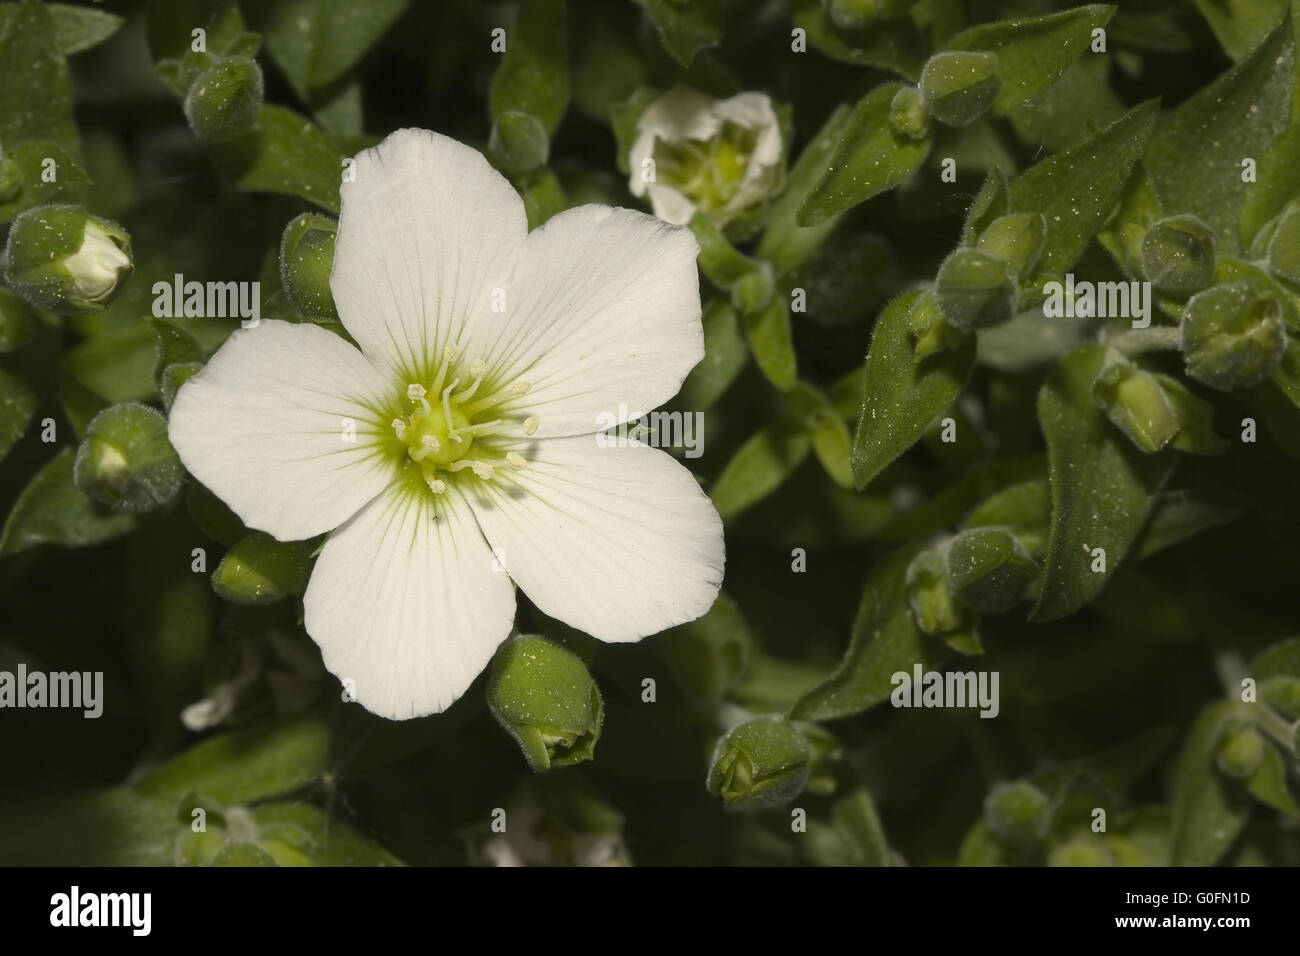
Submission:
[[410,467],[434,494],[447,490],[452,476],[469,471],[485,481],[502,467],[523,468],[526,460],[516,451],[503,451],[494,436],[537,432],[537,416],[510,419],[498,415],[499,406],[528,392],[526,381],[489,394],[480,394],[486,364],[478,359],[462,375],[456,367],[459,350],[448,345],[442,364],[428,385],[407,385],[406,414],[393,419],[393,433],[406,446]]

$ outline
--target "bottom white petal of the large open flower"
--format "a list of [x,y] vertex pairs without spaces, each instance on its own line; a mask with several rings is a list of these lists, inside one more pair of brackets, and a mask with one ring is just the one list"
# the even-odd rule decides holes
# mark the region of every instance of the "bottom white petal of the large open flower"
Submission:
[[325,666],[381,717],[446,710],[515,620],[510,578],[452,496],[386,490],[330,535],[303,596]]

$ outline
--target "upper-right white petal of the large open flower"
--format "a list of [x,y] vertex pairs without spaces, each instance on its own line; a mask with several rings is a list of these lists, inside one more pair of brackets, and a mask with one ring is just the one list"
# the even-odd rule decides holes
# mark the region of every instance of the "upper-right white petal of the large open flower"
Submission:
[[506,315],[473,326],[465,355],[500,382],[530,384],[502,411],[537,415],[538,437],[608,428],[602,414],[636,418],[703,358],[698,250],[689,229],[644,212],[567,209],[528,237]]

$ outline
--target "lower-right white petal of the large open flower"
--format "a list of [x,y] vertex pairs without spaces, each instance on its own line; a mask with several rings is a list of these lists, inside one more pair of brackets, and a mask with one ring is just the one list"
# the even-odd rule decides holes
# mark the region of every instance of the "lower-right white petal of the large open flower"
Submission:
[[528,467],[510,472],[519,488],[486,481],[469,501],[533,604],[604,641],[708,610],[723,580],[723,525],[690,472],[658,449],[601,447],[595,436],[526,453]]

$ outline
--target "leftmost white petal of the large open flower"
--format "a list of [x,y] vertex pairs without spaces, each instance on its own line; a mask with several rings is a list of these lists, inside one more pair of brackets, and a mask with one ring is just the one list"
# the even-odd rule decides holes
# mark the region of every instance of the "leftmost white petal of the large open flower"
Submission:
[[[335,528],[384,490],[387,382],[316,325],[239,329],[176,395],[168,436],[243,523],[292,541]],[[348,441],[351,428],[355,440]]]

